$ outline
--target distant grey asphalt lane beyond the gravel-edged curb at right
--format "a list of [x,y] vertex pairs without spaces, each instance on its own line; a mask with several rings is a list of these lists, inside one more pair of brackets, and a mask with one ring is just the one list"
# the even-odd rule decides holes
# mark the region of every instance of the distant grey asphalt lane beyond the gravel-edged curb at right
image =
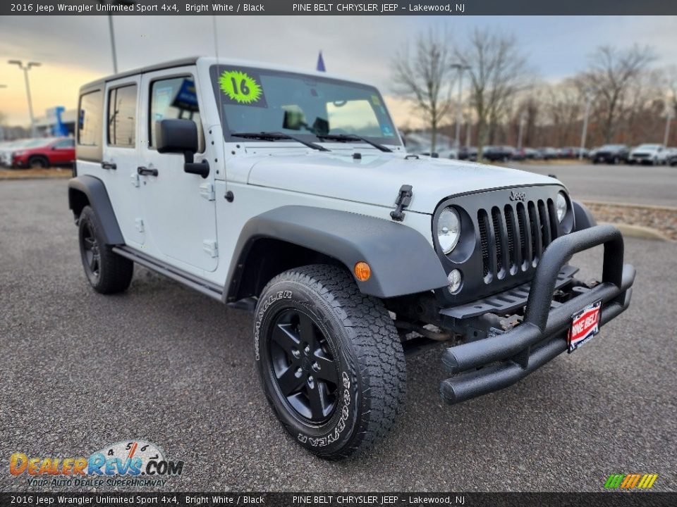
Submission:
[[590,163],[516,163],[510,167],[556,175],[575,199],[677,206],[677,167]]

